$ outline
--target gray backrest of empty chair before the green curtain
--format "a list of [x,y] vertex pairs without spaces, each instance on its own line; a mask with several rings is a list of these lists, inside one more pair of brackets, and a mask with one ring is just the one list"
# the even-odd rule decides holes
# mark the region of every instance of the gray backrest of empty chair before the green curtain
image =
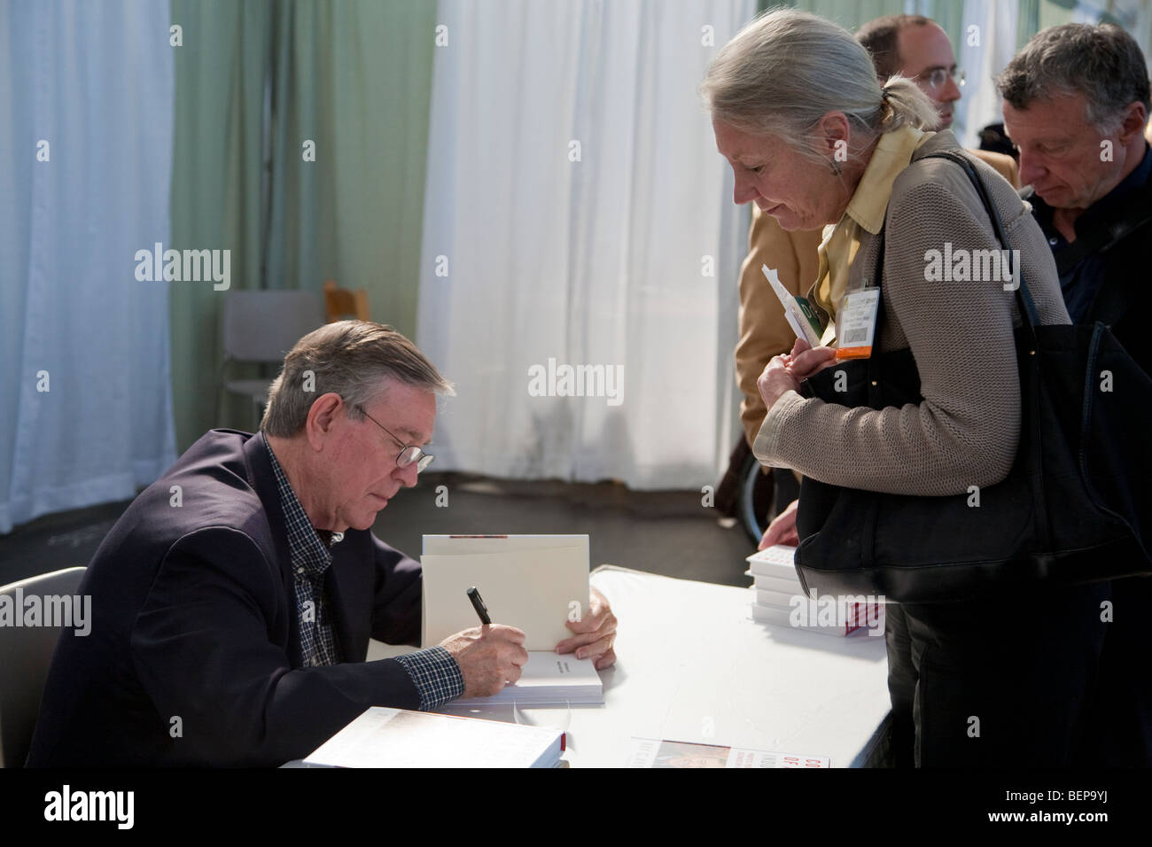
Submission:
[[323,324],[316,292],[229,292],[223,298],[223,355],[237,362],[283,362],[302,336]]

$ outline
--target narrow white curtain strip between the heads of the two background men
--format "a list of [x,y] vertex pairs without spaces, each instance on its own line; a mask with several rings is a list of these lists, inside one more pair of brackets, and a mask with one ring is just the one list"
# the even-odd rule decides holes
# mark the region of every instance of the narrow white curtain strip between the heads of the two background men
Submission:
[[[956,58],[968,75],[964,99],[956,113],[956,138],[968,148],[980,146],[980,130],[1003,120],[995,77],[1016,54],[1016,23],[1020,3],[996,0],[965,0],[960,53]],[[969,28],[976,27],[971,31]],[[971,36],[976,35],[977,38]]]

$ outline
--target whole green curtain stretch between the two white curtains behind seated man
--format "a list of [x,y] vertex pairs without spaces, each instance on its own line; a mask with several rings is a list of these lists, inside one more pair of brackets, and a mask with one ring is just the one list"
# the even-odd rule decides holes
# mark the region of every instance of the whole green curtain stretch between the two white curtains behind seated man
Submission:
[[[230,249],[234,290],[365,288],[373,319],[414,334],[434,0],[172,0],[172,16],[173,247]],[[225,293],[172,285],[183,451],[255,416],[215,411]]]

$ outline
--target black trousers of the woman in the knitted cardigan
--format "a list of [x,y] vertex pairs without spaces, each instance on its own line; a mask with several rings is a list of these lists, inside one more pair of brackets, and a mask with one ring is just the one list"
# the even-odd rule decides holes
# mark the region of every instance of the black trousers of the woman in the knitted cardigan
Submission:
[[897,766],[1084,764],[1112,584],[887,607]]

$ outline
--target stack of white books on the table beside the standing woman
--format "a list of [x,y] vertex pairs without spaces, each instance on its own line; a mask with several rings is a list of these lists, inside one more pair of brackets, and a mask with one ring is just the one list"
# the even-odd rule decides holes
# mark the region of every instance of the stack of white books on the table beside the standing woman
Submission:
[[752,619],[825,635],[850,635],[884,626],[876,597],[811,597],[796,574],[796,547],[778,544],[746,559],[753,580]]

